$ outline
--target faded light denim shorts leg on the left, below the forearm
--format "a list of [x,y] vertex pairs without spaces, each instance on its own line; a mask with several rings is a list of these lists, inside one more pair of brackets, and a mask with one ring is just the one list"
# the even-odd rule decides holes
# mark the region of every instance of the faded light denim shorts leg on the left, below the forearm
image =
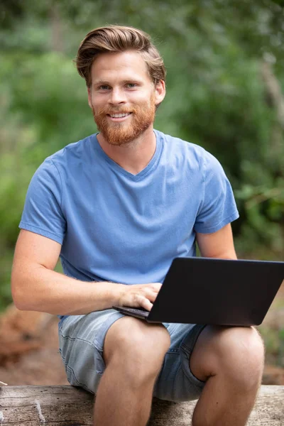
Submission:
[[104,373],[103,347],[109,327],[124,317],[116,310],[70,315],[58,327],[60,355],[67,380],[96,393]]

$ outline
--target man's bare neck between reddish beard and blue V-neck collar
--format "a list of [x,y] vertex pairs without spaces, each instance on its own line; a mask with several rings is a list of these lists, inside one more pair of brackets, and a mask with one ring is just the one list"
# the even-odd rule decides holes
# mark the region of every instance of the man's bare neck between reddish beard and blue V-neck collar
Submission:
[[106,153],[111,160],[133,175],[137,175],[141,170],[146,168],[155,153],[156,140],[153,126],[146,129],[146,131],[134,141],[125,143],[121,146],[108,143],[104,139],[104,136],[102,136],[102,133],[97,135],[97,140],[104,153]]

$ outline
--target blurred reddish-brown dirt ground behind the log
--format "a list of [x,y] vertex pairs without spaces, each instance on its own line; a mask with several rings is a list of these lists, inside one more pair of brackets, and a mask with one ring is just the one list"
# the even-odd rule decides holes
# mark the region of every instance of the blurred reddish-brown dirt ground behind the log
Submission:
[[[284,285],[263,324],[283,328],[282,299]],[[58,352],[58,317],[8,307],[0,317],[0,381],[10,386],[67,384]],[[263,384],[284,385],[284,368],[266,365]]]

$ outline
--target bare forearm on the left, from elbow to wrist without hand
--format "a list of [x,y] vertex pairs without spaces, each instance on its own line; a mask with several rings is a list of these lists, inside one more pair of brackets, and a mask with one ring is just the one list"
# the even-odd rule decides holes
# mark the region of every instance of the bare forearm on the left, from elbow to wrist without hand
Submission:
[[118,305],[125,285],[85,282],[44,266],[13,268],[13,301],[20,310],[83,315]]

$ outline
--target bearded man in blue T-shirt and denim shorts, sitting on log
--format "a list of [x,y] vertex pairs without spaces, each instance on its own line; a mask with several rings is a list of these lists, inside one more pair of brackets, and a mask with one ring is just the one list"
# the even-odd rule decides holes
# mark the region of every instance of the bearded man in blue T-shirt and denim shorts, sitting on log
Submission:
[[[13,300],[60,315],[67,378],[96,393],[95,425],[146,425],[153,395],[199,398],[194,426],[245,425],[263,371],[255,329],[148,324],[111,309],[151,310],[171,261],[195,256],[195,242],[202,256],[236,258],[231,186],[203,148],[153,130],[165,67],[146,33],[97,28],[76,62],[99,133],[33,176]],[[58,256],[65,275],[53,271]]]

